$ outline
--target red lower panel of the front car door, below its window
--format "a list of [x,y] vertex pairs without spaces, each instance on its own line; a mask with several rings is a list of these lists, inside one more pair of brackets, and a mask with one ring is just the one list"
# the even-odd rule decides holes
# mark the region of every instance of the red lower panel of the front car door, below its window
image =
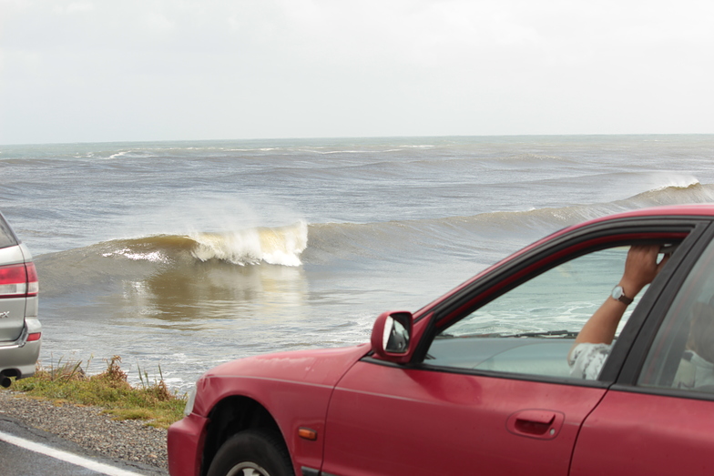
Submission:
[[567,474],[604,391],[361,362],[332,397],[322,474]]

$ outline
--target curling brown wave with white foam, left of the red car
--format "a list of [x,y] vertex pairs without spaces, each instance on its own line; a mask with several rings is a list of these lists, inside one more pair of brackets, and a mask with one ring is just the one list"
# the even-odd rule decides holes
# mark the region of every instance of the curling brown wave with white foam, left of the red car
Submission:
[[307,247],[308,226],[250,228],[226,233],[158,235],[116,239],[84,248],[36,257],[43,295],[61,295],[72,289],[113,289],[117,282],[140,282],[170,271],[175,277],[194,276],[207,268],[242,268],[301,265]]

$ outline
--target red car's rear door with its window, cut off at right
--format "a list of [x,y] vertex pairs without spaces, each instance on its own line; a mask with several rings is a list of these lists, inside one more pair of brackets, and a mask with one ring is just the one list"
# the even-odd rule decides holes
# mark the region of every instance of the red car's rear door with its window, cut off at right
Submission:
[[658,297],[616,384],[586,418],[574,476],[617,469],[628,476],[714,472],[711,235],[692,249]]

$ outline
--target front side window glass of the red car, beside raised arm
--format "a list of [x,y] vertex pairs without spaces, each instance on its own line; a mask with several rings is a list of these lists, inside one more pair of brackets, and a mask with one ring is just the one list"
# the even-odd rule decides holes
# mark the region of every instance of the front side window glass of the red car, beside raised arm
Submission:
[[622,276],[627,250],[572,259],[488,302],[439,332],[424,364],[571,378],[567,354]]

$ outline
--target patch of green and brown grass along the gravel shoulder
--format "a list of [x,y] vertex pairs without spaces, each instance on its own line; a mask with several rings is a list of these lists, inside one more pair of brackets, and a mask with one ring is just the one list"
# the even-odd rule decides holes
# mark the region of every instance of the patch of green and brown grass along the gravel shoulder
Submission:
[[148,425],[158,428],[168,428],[183,417],[186,397],[168,390],[160,367],[160,379],[153,382],[139,368],[140,385],[133,387],[127,381],[127,372],[121,370],[119,356],[105,361],[107,370],[87,376],[81,360],[62,364],[60,359],[56,367],[38,366],[35,376],[15,380],[12,389],[32,398],[52,400],[56,405],[100,407],[116,420],[147,420]]

